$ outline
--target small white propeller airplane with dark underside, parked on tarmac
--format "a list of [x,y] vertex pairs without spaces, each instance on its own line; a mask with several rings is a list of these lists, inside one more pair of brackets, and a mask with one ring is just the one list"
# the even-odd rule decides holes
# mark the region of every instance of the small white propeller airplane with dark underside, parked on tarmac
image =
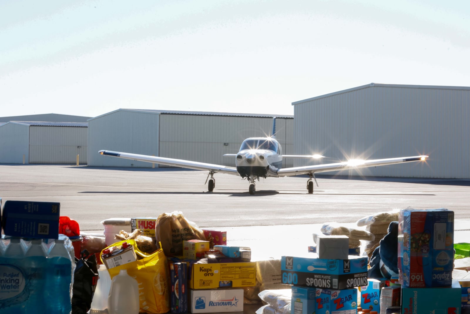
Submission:
[[230,175],[241,176],[242,178],[246,178],[250,182],[250,186],[248,189],[250,194],[254,194],[256,192],[255,180],[258,180],[259,182],[259,177],[288,177],[305,174],[309,176],[309,179],[307,180],[307,191],[308,193],[312,194],[312,178],[315,180],[315,183],[318,186],[318,182],[315,178],[315,173],[385,166],[413,161],[425,161],[426,158],[428,158],[427,155],[420,155],[375,160],[349,160],[344,162],[327,163],[320,165],[282,168],[282,158],[319,159],[323,158],[323,156],[319,154],[283,155],[282,147],[279,142],[275,139],[275,122],[276,121],[274,118],[273,130],[270,137],[249,137],[243,141],[240,147],[240,151],[238,153],[224,154],[224,156],[235,157],[235,167],[216,165],[199,161],[140,155],[134,153],[113,152],[108,150],[100,150],[99,153],[102,155],[131,159],[135,161],[146,161],[168,166],[209,171],[209,174],[207,175],[206,181],[204,183],[206,184],[207,182],[209,182],[209,192],[212,192],[215,187],[215,173],[220,172]]

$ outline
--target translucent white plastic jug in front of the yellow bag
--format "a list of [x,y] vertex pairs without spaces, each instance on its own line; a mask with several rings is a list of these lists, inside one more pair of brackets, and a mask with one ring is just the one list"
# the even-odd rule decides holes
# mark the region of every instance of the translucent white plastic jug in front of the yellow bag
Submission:
[[111,281],[109,314],[139,314],[139,284],[121,269]]

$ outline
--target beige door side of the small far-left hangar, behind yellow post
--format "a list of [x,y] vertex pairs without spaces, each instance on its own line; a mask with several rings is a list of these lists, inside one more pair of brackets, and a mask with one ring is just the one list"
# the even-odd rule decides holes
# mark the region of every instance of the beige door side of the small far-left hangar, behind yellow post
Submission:
[[87,163],[88,132],[85,127],[31,126],[30,163]]

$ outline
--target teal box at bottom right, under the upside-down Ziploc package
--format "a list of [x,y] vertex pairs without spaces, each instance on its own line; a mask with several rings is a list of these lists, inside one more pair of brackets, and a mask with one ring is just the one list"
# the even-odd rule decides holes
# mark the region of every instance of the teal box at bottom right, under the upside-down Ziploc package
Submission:
[[462,289],[457,280],[452,287],[440,288],[402,288],[402,314],[460,314]]

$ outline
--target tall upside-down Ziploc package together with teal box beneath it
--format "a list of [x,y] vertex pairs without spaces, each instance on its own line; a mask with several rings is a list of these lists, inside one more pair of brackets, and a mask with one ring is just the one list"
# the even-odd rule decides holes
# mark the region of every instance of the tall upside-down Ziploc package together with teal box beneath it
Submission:
[[398,269],[403,314],[460,313],[461,287],[452,280],[454,212],[402,209]]

